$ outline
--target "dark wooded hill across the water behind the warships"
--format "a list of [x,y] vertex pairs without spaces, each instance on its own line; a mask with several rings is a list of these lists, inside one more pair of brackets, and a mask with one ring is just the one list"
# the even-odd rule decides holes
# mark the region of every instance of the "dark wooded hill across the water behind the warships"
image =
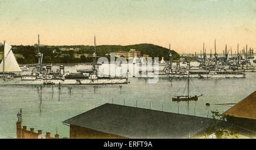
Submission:
[[[38,63],[38,58],[35,56],[37,53],[37,46],[23,46],[23,45],[12,45],[14,54],[21,54],[22,57],[16,57],[18,63]],[[64,49],[64,50],[63,50]],[[164,60],[169,59],[169,49],[163,48],[153,44],[135,44],[135,45],[99,45],[96,46],[96,53],[98,56],[106,57],[106,53],[126,51],[135,49],[141,51],[143,54],[149,55],[149,57],[159,57],[159,60],[164,57]],[[40,52],[44,54],[43,63],[83,63],[92,62],[92,57],[85,57],[86,54],[92,54],[94,46],[88,45],[71,45],[71,46],[40,46]],[[0,52],[3,53],[3,45],[0,46]],[[174,56],[174,60],[180,58],[174,50],[171,51]],[[109,57],[109,56],[108,56]],[[2,58],[1,58],[2,59]]]

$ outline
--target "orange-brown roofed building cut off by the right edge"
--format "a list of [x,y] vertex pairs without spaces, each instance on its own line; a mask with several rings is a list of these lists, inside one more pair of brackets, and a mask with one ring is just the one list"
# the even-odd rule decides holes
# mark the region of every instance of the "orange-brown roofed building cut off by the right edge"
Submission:
[[228,115],[228,122],[256,132],[256,91],[238,102],[224,114]]

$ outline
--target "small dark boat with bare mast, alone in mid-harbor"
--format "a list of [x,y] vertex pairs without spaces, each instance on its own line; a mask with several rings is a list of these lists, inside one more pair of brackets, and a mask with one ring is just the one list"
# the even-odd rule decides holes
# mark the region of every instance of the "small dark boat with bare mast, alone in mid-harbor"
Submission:
[[[195,95],[195,96],[189,95],[190,94],[190,91],[189,91],[189,75],[188,75],[188,81],[187,81],[187,85],[186,86],[187,86],[187,92],[188,92],[187,95],[185,95],[185,96],[184,95],[174,96],[174,97],[172,97],[172,101],[191,101],[191,100],[197,101],[198,97],[203,96],[203,94],[201,94],[199,96],[197,96],[197,95]],[[178,89],[178,91],[179,91],[179,89]],[[185,89],[184,89],[184,92],[185,92]]]

